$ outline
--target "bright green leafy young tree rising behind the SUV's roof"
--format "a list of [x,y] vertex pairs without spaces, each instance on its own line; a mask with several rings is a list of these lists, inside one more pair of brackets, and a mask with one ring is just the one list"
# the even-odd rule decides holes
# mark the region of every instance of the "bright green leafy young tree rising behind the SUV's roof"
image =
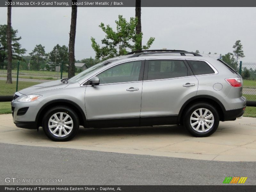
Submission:
[[[115,22],[116,31],[109,25],[105,27],[103,23],[99,26],[106,33],[105,38],[101,40],[101,43],[105,44],[105,46],[100,48],[95,38],[91,37],[92,48],[96,52],[96,59],[106,60],[111,57],[124,55],[128,50],[136,51],[140,47],[143,34],[136,34],[135,28],[138,19],[131,17],[130,22],[127,22],[122,15],[118,15],[118,20]],[[150,37],[147,44],[142,46],[142,49],[149,49],[154,40],[155,38]]]

